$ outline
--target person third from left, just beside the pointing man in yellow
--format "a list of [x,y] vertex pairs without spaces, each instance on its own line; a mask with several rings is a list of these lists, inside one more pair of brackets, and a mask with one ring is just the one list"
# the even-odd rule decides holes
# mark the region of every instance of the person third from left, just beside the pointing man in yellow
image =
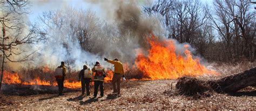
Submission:
[[99,62],[96,62],[95,66],[92,68],[92,72],[95,72],[95,76],[93,78],[94,81],[94,97],[97,97],[98,94],[98,87],[100,87],[100,97],[104,96],[104,78],[105,76],[105,69]]

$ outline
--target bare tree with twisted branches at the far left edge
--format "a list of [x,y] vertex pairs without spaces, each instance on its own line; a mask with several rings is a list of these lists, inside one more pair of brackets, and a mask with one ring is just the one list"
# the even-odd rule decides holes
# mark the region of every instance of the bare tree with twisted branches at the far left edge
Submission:
[[[2,15],[0,16],[2,36],[0,36],[0,50],[2,60],[2,76],[0,81],[0,89],[3,79],[4,63],[6,62],[23,62],[30,60],[30,54],[25,54],[24,50],[19,50],[22,45],[37,41],[37,35],[33,28],[28,29],[23,23],[22,15],[25,14],[26,1],[1,1],[0,6]],[[26,31],[28,29],[29,31]]]

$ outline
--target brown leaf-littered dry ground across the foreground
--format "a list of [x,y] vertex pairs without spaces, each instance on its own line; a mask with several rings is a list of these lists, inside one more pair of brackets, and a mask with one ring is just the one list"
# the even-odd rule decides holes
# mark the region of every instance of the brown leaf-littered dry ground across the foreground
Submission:
[[[65,89],[58,97],[57,87],[36,87],[46,90],[4,90],[0,96],[0,110],[83,110],[83,109],[235,109],[256,110],[256,87],[247,87],[237,94],[208,92],[200,98],[179,95],[177,80],[126,80],[122,83],[122,95],[112,93],[110,83],[104,84],[102,98],[81,96],[80,90]],[[14,87],[14,86],[12,86]],[[27,86],[32,87],[32,86]],[[14,87],[15,88],[15,87]],[[50,91],[48,89],[51,89]],[[28,92],[29,91],[29,92]],[[49,92],[48,92],[49,91]],[[93,87],[91,87],[93,93]]]

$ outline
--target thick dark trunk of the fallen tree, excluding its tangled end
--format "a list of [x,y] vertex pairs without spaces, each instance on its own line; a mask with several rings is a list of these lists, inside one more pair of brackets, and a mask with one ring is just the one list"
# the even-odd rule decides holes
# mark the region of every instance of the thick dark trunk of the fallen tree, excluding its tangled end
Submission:
[[247,86],[256,84],[256,67],[236,75],[228,76],[216,81],[211,81],[210,85],[215,91],[232,93]]

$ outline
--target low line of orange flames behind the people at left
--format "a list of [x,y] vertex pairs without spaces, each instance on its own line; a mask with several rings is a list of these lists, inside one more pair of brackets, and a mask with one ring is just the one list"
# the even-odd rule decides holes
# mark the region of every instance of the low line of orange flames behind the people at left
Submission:
[[[39,68],[39,70],[34,69],[33,71],[31,70],[29,72],[32,72],[30,73],[32,75],[37,75],[37,77],[35,76],[25,77],[24,73],[4,71],[3,83],[8,85],[21,84],[21,85],[57,86],[57,82],[54,77],[54,71],[49,69],[47,66],[42,66],[41,68]],[[104,81],[105,83],[109,83],[110,80],[112,80],[113,71],[107,70],[106,73],[107,73],[106,74],[107,77],[105,77]],[[29,73],[26,73],[26,74],[29,74]],[[72,72],[70,74],[71,75],[68,76],[69,78],[64,81],[64,86],[66,88],[81,88],[81,83],[78,82],[77,80],[78,72]]]

